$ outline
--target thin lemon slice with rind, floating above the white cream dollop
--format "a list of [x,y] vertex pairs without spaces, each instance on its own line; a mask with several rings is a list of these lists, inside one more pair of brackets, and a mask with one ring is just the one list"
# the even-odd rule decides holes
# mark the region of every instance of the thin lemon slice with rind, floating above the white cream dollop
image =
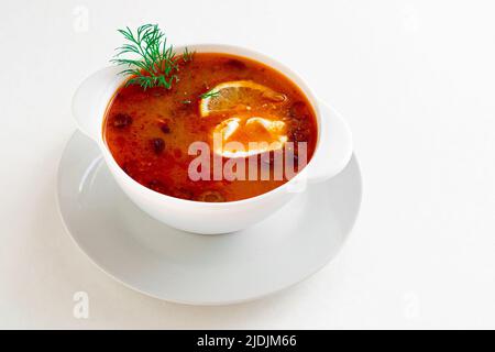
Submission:
[[213,87],[205,96],[199,103],[201,117],[208,117],[216,112],[249,111],[267,101],[283,102],[286,100],[285,95],[252,80],[226,81]]

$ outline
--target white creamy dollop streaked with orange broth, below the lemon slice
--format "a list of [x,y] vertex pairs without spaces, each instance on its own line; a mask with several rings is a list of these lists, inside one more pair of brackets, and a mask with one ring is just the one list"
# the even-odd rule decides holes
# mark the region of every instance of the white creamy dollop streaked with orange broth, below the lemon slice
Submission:
[[222,140],[221,145],[216,145],[215,153],[223,157],[248,157],[280,150],[287,142],[286,129],[285,122],[275,119],[227,119],[213,130],[213,139]]

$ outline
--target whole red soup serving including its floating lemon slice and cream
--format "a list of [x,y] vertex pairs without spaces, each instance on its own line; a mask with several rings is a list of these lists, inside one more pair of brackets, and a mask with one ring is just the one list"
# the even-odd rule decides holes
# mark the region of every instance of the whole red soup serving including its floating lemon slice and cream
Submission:
[[[304,167],[301,144],[309,162],[318,138],[316,117],[292,80],[262,63],[221,53],[196,53],[177,63],[180,75],[169,89],[122,85],[107,108],[105,141],[130,177],[172,197],[234,201],[265,194],[290,178],[274,177],[282,151],[290,150],[295,173]],[[202,175],[212,174],[220,163],[220,169],[230,166],[245,177],[191,177],[191,163],[198,158],[191,145],[198,142],[210,147],[213,161],[201,164]],[[261,146],[242,147],[250,143]],[[240,169],[244,161],[250,167]],[[266,170],[270,177],[260,177]],[[254,174],[258,177],[250,177]]]

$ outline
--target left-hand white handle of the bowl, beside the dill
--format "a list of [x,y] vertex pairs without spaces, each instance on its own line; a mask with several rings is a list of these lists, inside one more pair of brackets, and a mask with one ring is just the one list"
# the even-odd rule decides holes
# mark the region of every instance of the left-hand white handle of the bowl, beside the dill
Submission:
[[77,128],[95,141],[100,138],[108,101],[123,78],[120,70],[112,66],[96,72],[79,85],[74,95],[72,110]]

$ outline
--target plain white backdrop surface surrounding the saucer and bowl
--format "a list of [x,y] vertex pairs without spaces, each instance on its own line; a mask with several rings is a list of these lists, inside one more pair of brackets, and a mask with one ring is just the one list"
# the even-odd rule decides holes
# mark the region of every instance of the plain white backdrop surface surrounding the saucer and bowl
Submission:
[[[3,1],[0,328],[495,328],[494,1]],[[160,301],[72,242],[56,172],[116,29],[258,50],[346,117],[364,198],[339,256],[231,307]],[[228,289],[228,288],[226,288]],[[89,319],[73,295],[89,295]]]

